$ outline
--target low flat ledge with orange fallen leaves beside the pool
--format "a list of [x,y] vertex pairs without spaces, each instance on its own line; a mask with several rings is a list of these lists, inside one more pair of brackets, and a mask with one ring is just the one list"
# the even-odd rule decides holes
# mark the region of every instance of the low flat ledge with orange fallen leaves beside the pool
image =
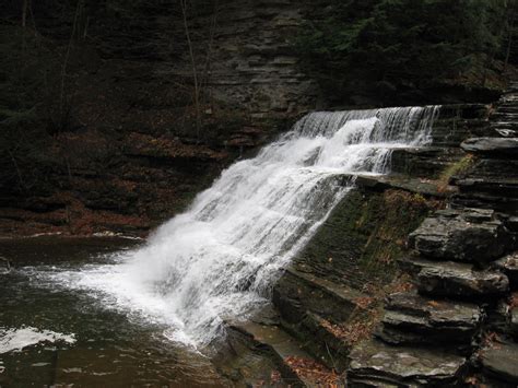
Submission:
[[256,346],[268,351],[279,367],[283,381],[289,386],[343,386],[337,374],[311,357],[296,339],[280,327],[247,321],[227,322],[227,328],[245,334]]

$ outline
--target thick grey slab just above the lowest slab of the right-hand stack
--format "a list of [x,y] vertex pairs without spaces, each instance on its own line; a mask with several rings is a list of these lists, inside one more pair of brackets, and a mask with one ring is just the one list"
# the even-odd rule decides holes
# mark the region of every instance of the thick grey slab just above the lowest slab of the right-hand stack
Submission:
[[414,292],[390,295],[385,309],[377,336],[391,344],[464,344],[469,349],[482,318],[474,304],[433,299]]

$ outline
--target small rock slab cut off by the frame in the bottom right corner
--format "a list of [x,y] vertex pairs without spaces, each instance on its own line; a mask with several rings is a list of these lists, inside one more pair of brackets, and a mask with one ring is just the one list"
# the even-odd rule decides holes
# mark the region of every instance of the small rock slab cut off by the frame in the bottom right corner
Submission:
[[493,343],[480,353],[480,360],[490,376],[518,384],[518,344]]

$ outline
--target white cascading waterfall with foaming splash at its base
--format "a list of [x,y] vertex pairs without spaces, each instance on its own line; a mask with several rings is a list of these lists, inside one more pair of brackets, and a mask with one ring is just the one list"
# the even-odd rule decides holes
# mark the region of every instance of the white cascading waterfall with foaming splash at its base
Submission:
[[104,302],[166,324],[196,346],[245,318],[354,185],[385,174],[391,150],[429,141],[436,107],[315,113],[256,157],[235,163],[119,263],[59,272]]

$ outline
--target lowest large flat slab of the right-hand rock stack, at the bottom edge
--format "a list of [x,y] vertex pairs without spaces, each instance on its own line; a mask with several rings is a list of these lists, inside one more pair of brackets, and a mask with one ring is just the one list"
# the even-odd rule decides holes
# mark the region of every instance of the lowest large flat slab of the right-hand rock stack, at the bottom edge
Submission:
[[373,340],[351,352],[348,386],[444,386],[455,384],[466,365],[462,356],[421,348],[390,346]]

